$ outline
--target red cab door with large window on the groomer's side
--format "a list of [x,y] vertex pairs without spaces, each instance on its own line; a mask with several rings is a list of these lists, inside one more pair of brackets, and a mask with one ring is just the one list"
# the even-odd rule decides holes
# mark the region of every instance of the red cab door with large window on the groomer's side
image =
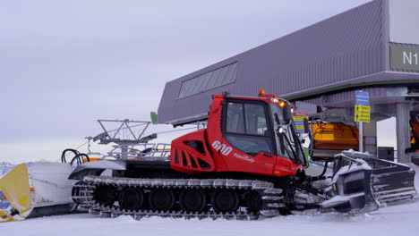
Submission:
[[[270,175],[277,162],[268,107],[262,101],[227,99],[223,106],[223,155],[231,172]],[[227,150],[227,151],[226,151]]]

